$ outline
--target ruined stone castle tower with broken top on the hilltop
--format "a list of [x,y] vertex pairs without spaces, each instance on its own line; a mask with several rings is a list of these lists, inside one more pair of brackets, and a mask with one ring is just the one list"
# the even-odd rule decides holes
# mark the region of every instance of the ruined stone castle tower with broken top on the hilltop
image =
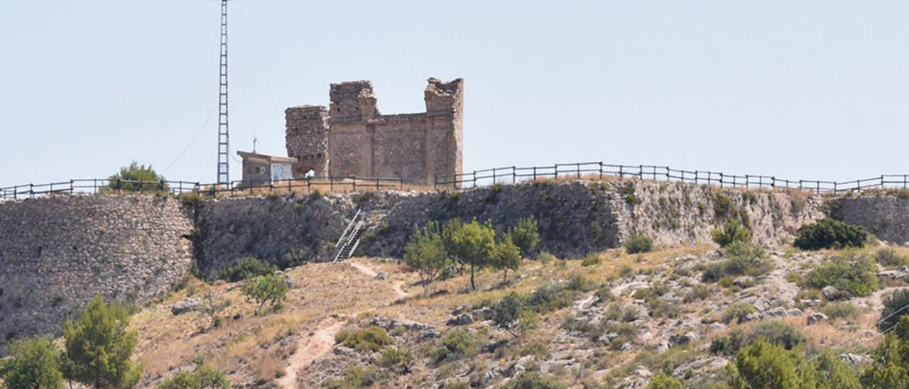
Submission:
[[426,112],[382,115],[369,81],[332,84],[328,108],[287,108],[287,155],[294,175],[401,177],[432,185],[461,173],[464,80],[429,79]]

